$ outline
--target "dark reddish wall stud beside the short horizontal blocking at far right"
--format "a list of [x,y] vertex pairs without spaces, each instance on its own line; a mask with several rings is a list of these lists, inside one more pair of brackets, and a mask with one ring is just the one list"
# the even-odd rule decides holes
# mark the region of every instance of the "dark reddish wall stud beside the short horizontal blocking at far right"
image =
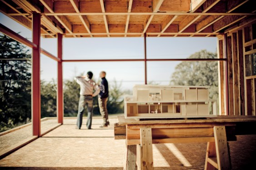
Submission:
[[239,84],[240,84],[240,103],[241,103],[241,115],[245,114],[245,75],[244,75],[244,51],[243,51],[243,31],[238,30],[238,59],[239,59]]

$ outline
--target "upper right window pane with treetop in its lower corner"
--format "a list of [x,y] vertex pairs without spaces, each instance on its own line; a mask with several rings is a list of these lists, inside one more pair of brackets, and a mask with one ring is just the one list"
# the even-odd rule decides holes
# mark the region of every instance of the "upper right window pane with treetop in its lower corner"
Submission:
[[[151,37],[146,39],[147,58],[217,58],[217,55],[198,56],[206,50],[215,53],[216,37]],[[192,55],[193,54],[193,55]]]

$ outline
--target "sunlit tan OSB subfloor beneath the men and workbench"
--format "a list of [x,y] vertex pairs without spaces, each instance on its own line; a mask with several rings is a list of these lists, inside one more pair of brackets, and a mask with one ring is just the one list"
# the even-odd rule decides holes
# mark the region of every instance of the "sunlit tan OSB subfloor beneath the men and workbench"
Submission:
[[[114,140],[116,117],[110,127],[99,128],[93,118],[91,130],[75,129],[75,118],[0,160],[3,170],[123,170],[125,140]],[[203,170],[206,143],[153,145],[155,170]],[[237,136],[229,142],[232,170],[256,169],[256,135]],[[251,168],[249,168],[251,167]]]

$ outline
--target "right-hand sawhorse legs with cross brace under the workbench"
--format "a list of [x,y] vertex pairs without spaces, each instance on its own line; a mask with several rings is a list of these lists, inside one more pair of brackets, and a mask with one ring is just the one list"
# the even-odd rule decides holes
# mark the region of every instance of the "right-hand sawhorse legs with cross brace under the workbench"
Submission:
[[225,126],[214,126],[215,142],[207,142],[205,170],[231,170]]

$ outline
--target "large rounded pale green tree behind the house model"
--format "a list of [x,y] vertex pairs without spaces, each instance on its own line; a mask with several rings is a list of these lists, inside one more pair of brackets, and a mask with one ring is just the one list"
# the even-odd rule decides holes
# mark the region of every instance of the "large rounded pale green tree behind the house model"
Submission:
[[[189,58],[217,58],[217,53],[206,50],[192,54]],[[171,75],[171,85],[211,86],[209,97],[218,98],[218,62],[184,61],[175,67]]]

